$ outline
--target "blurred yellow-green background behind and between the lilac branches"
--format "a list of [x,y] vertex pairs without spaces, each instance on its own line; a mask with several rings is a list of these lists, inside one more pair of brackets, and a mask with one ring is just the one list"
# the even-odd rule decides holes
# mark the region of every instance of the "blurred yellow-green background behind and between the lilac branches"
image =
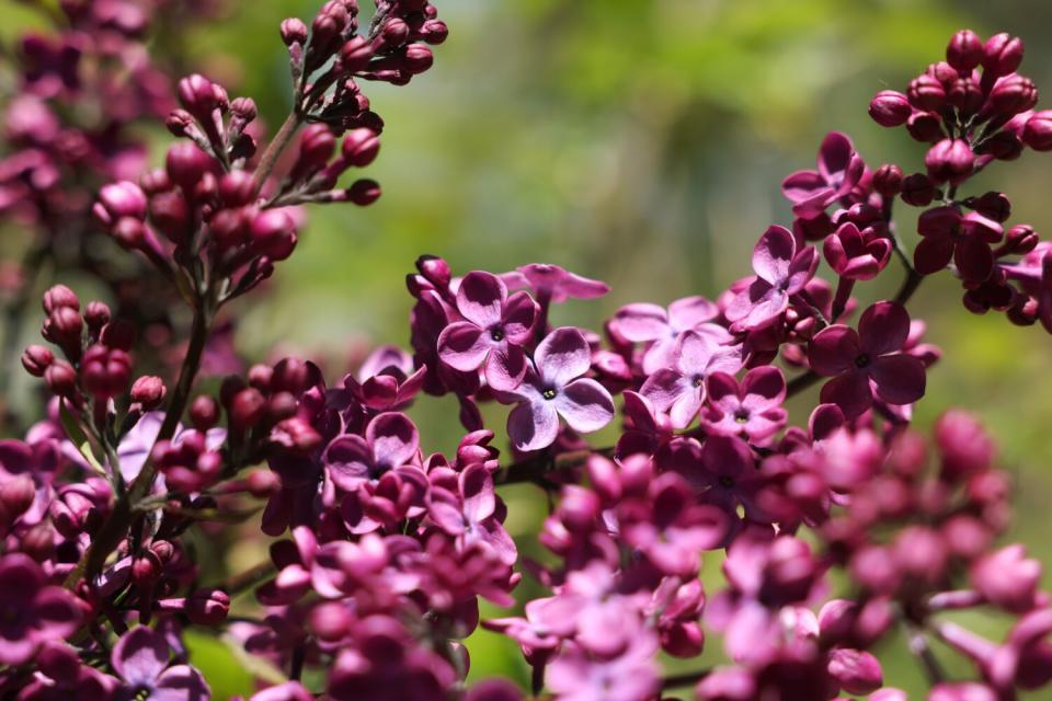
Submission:
[[[233,94],[256,99],[278,124],[288,107],[278,22],[309,18],[317,0],[228,0],[221,20],[191,37],[197,68]],[[365,4],[368,4],[367,2]],[[596,302],[557,310],[554,321],[598,329],[629,301],[714,296],[748,274],[748,251],[770,222],[791,221],[779,184],[812,168],[822,137],[846,131],[871,166],[922,165],[904,130],[866,114],[870,96],[903,89],[942,57],[951,33],[1008,31],[1027,45],[1022,72],[1052,85],[1052,3],[1042,0],[439,0],[449,39],[436,66],[408,89],[370,85],[387,128],[367,175],[384,197],[366,209],[316,208],[297,253],[270,294],[239,312],[238,347],[266,358],[277,347],[328,357],[330,366],[375,343],[408,340],[403,275],[422,253],[458,273],[550,262],[609,283]],[[24,21],[0,4],[3,35]],[[1043,103],[1042,103],[1043,104]],[[1026,153],[974,184],[1009,195],[1014,222],[1052,235],[1052,160]],[[907,245],[913,221],[901,217]],[[893,263],[894,265],[894,263]],[[885,287],[857,288],[862,302]],[[1052,341],[1040,327],[974,317],[948,276],[927,280],[911,306],[929,322],[945,359],[931,370],[917,424],[963,405],[997,436],[1016,475],[1016,533],[1044,562],[1052,494]],[[796,416],[805,416],[803,399]],[[414,409],[425,449],[455,445],[453,405]],[[544,516],[530,487],[510,491],[510,529],[526,552]],[[238,558],[251,564],[253,554]],[[719,561],[706,561],[716,581]],[[529,583],[524,587],[530,587]],[[487,610],[487,614],[503,614]],[[970,621],[992,635],[1003,621]],[[892,641],[889,681],[923,698],[916,665]],[[514,644],[478,633],[476,678],[526,680]],[[710,641],[706,660],[718,659]],[[218,698],[245,690],[247,675],[219,641],[195,662]],[[946,655],[948,658],[949,656]],[[952,667],[951,667],[952,669]],[[686,691],[684,691],[686,693]],[[1031,698],[1052,698],[1031,697]]]

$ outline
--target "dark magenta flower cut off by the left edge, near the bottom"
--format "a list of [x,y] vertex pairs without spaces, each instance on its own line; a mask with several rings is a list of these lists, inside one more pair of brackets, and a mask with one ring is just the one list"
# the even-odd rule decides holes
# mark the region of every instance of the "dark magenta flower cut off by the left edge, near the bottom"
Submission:
[[0,664],[30,662],[42,643],[72,635],[80,618],[73,595],[47,584],[28,555],[14,552],[0,559]]

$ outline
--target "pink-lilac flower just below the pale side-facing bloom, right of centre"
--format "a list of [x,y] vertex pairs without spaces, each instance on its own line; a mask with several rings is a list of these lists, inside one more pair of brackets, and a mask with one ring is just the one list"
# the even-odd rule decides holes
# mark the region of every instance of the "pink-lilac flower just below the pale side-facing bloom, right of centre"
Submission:
[[668,414],[674,428],[686,428],[705,403],[709,375],[737,372],[742,359],[737,349],[717,345],[695,331],[679,336],[672,355],[672,367],[647,378],[639,393]]

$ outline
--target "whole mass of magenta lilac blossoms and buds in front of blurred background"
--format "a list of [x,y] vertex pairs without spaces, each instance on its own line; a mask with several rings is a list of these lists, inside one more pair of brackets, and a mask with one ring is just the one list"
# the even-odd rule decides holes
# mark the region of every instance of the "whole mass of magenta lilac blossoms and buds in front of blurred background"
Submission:
[[[167,124],[185,140],[164,168],[100,191],[100,227],[194,321],[167,382],[136,371],[134,324],[61,285],[44,296],[50,347],[22,359],[54,398],[24,440],[0,441],[4,696],[206,699],[190,628],[225,629],[270,670],[253,701],[901,701],[877,656],[900,631],[930,701],[1052,681],[1042,567],[999,540],[1011,484],[993,440],[959,410],[934,450],[910,427],[940,357],[906,311],[924,276],[958,276],[973,311],[1048,311],[1038,235],[1005,233],[1004,194],[958,195],[993,160],[1044,147],[1052,120],[1030,112],[1018,39],[961,32],[908,95],[874,99],[879,123],[933,142],[926,174],[871,170],[826,137],[817,169],[784,184],[792,228],[764,232],[753,274],[714,300],[626,303],[595,332],[558,315],[610,292],[602,281],[552,264],[454,275],[422,256],[407,276],[412,352],[381,346],[334,382],[290,357],[209,392],[195,379],[216,314],[294,253],[301,208],[378,194],[338,182],[377,156],[358,81],[408,82],[446,36],[424,0],[378,0],[363,28],[354,0],[282,24],[294,108],[261,153],[252,101],[195,74],[179,83]],[[938,203],[913,256],[896,198]],[[899,292],[860,302],[856,284],[893,255]],[[787,399],[819,381],[807,422],[790,423]],[[456,400],[450,455],[410,417],[421,394]],[[510,459],[487,403],[506,407]],[[588,443],[596,432],[610,445]],[[540,561],[505,527],[499,490],[522,483],[549,498]],[[267,561],[202,582],[187,535],[258,510]],[[706,561],[723,575],[709,590]],[[525,601],[524,571],[542,590]],[[481,600],[522,608],[481,620]],[[1003,641],[956,617],[973,608],[1011,619]],[[467,682],[480,627],[522,647],[528,692]],[[696,659],[707,632],[725,664],[663,664]],[[972,674],[948,676],[935,640]]]

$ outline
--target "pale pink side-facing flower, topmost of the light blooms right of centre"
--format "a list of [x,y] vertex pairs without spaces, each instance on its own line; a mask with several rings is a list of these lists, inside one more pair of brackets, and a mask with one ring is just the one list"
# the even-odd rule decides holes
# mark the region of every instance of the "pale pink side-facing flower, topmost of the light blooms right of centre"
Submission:
[[701,330],[720,341],[730,341],[730,334],[717,324],[707,322],[720,315],[720,308],[704,297],[684,297],[668,304],[665,311],[658,304],[639,302],[626,304],[614,315],[615,332],[630,343],[649,343],[643,353],[643,372],[672,363],[672,353],[685,331]]

